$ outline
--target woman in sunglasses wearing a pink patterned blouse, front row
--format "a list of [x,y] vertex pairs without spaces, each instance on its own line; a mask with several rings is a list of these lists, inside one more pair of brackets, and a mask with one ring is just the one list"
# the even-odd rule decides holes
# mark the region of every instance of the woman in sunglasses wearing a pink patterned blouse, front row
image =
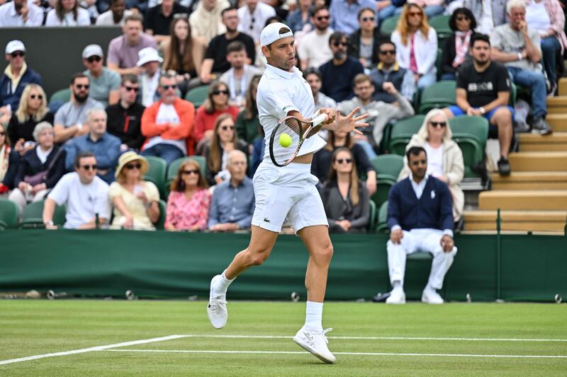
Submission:
[[202,231],[207,228],[210,192],[198,162],[187,159],[179,166],[167,198],[167,231]]

